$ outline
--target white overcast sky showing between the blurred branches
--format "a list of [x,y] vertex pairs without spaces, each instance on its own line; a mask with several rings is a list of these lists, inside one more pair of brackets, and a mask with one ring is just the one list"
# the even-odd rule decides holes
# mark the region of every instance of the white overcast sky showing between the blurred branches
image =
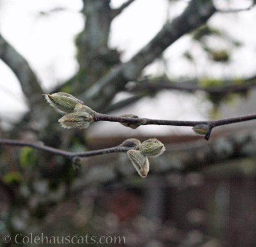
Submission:
[[[125,1],[112,0],[115,7],[123,2]],[[187,5],[186,2],[177,1],[174,7],[168,8],[167,0],[136,0],[113,21],[110,45],[123,51],[123,61],[130,59],[154,37],[167,18],[173,18],[182,12]],[[216,1],[218,4],[224,2]],[[240,1],[242,2],[248,3],[247,0]],[[50,15],[39,14],[40,11],[47,12],[56,7],[67,8],[67,11],[59,11]],[[83,17],[79,13],[81,8],[81,0],[0,0],[1,34],[29,61],[46,91],[57,83],[65,81],[77,71],[74,39],[83,28]],[[256,72],[256,29],[253,25],[256,19],[255,9],[235,14],[216,14],[210,20],[212,26],[226,31],[230,36],[246,44],[244,48],[237,49],[233,53],[229,65],[223,66],[209,62],[200,47],[197,44],[192,45],[189,37],[184,36],[165,51],[164,58],[167,66],[165,72],[174,78],[191,75],[199,77],[204,75],[215,77],[253,75]],[[219,47],[229,46],[218,39],[215,42],[215,45]],[[234,51],[233,47],[228,48]],[[186,50],[191,51],[198,58],[196,70],[194,65],[181,58],[181,54]],[[156,61],[144,70],[144,75],[163,73],[162,65],[162,62]],[[190,95],[184,97],[182,93],[162,92],[155,99],[145,98],[128,110],[129,113],[140,117],[202,120],[207,118],[207,111],[210,109],[210,105],[203,100],[203,94],[198,94],[198,97]],[[2,106],[0,117],[14,112],[15,114],[16,112],[23,113],[26,110],[25,99],[18,81],[1,60],[0,106]],[[97,127],[96,124],[94,126],[97,129],[94,131],[112,133],[119,125],[97,123]],[[120,128],[122,132],[131,132],[128,128],[122,126]],[[145,126],[136,131],[146,134],[152,132],[163,134],[170,131],[179,132],[180,129],[180,127]]]

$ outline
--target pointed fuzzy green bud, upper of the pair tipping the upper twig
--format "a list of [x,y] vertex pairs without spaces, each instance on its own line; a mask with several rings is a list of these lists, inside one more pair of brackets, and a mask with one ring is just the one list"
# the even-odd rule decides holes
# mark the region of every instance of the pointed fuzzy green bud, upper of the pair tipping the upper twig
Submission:
[[46,94],[47,102],[64,113],[73,113],[82,110],[83,102],[67,93]]

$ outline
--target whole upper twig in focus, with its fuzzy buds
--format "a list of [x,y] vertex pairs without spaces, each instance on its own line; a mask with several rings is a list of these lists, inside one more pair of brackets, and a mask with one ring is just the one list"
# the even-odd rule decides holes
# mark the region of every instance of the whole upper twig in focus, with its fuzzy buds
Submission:
[[118,122],[126,127],[136,129],[140,125],[170,125],[170,126],[191,126],[196,133],[203,134],[206,140],[209,140],[212,128],[244,122],[256,119],[256,114],[238,116],[233,118],[225,118],[220,120],[209,121],[180,121],[180,120],[159,120],[139,118],[133,114],[125,114],[121,116],[113,116],[97,113],[90,107],[83,104],[82,101],[67,93],[46,94],[46,100],[51,106],[65,113],[58,121],[64,128],[87,128],[90,122],[109,121]]

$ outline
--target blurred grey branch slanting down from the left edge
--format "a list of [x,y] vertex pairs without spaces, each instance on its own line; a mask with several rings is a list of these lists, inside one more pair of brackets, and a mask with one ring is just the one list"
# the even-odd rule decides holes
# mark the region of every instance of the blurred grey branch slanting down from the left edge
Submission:
[[29,106],[34,107],[44,93],[35,73],[25,58],[20,55],[0,34],[0,59],[2,59],[17,76]]

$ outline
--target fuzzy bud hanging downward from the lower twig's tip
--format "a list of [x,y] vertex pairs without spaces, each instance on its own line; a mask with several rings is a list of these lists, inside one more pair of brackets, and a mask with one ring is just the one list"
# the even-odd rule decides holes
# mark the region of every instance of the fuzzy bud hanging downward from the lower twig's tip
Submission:
[[146,177],[148,171],[150,170],[150,163],[146,156],[144,156],[138,150],[129,150],[127,151],[129,159],[132,161],[133,166],[140,176]]

